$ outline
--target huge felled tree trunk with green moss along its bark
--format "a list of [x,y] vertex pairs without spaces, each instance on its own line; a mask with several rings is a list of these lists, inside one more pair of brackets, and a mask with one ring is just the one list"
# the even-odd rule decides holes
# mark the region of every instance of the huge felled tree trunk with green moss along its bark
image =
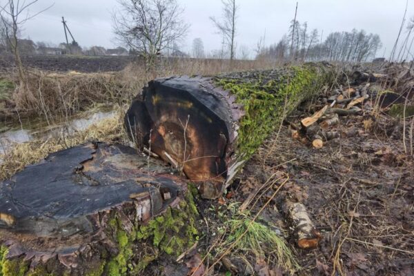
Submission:
[[139,147],[182,170],[203,197],[213,199],[284,113],[320,92],[330,72],[328,66],[309,64],[156,79],[132,102],[126,130]]

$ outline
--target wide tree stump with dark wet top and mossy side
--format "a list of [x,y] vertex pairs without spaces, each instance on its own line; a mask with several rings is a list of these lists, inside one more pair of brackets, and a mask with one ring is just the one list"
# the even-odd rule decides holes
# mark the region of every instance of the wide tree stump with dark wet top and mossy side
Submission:
[[0,275],[139,275],[195,242],[197,208],[161,161],[121,145],[61,150],[0,184]]

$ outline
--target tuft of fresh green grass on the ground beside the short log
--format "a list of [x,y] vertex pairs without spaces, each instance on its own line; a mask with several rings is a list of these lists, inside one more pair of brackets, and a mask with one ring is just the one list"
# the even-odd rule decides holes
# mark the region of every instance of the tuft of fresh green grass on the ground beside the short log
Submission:
[[226,225],[230,229],[230,234],[225,244],[235,243],[236,250],[253,253],[257,258],[267,259],[269,255],[273,255],[277,259],[277,264],[290,273],[300,268],[286,240],[279,237],[271,226],[253,221],[245,214],[226,221]]

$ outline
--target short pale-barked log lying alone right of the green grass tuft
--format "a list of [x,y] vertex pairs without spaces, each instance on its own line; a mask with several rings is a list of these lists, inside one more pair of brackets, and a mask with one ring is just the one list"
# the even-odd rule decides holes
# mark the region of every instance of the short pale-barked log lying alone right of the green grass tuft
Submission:
[[286,199],[284,213],[286,213],[293,228],[293,236],[296,239],[297,246],[303,249],[316,248],[322,236],[309,218],[304,204]]

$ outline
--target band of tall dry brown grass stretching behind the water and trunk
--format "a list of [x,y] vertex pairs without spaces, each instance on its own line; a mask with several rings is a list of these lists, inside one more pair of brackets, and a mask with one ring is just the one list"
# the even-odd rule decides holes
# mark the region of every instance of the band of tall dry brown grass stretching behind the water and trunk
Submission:
[[233,61],[222,59],[161,59],[157,68],[148,72],[144,66],[130,63],[120,72],[46,72],[27,71],[28,85],[19,87],[15,72],[2,75],[15,83],[3,117],[19,115],[38,116],[52,124],[56,118],[67,118],[80,110],[87,110],[93,103],[130,103],[141,88],[151,79],[170,75],[215,75],[221,72],[272,68],[276,64],[266,61]]

